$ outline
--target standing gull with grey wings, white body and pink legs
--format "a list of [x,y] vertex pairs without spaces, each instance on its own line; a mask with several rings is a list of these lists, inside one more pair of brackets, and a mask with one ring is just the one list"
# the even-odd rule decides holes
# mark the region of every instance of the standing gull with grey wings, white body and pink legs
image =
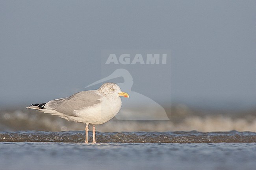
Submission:
[[122,106],[121,96],[129,98],[117,84],[107,82],[98,90],[80,91],[67,98],[31,104],[27,109],[85,123],[85,143],[88,143],[88,126],[93,125],[93,143],[96,143],[95,125],[106,123],[117,115]]

